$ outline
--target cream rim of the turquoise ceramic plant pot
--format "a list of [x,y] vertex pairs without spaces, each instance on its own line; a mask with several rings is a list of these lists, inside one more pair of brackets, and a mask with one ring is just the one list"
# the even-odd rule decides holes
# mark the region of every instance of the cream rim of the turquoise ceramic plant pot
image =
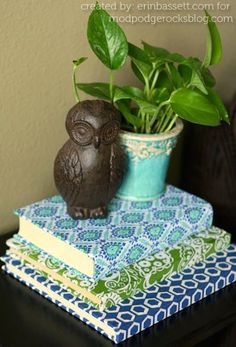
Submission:
[[120,130],[120,135],[123,138],[129,138],[133,140],[145,140],[145,141],[157,141],[157,140],[166,140],[171,137],[177,136],[183,130],[184,124],[181,119],[177,119],[175,127],[166,133],[161,134],[139,134],[132,133],[126,130]]

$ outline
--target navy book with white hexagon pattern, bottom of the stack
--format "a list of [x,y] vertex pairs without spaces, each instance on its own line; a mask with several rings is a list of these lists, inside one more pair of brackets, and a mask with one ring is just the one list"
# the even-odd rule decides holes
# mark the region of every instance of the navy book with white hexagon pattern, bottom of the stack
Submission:
[[183,310],[236,281],[236,245],[173,274],[132,298],[99,311],[21,260],[2,258],[3,269],[115,343]]

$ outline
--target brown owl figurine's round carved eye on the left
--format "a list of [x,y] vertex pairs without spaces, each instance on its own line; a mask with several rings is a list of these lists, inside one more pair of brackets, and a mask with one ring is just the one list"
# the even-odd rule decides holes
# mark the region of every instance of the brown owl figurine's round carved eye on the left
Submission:
[[76,123],[71,133],[73,139],[81,146],[87,146],[92,142],[93,128],[87,122]]

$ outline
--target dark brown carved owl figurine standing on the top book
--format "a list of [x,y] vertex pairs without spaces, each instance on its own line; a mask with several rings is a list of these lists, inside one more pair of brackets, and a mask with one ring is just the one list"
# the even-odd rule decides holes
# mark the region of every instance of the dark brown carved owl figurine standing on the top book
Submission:
[[120,113],[106,101],[82,101],[69,111],[66,129],[70,139],[54,163],[56,187],[72,218],[104,218],[124,172]]

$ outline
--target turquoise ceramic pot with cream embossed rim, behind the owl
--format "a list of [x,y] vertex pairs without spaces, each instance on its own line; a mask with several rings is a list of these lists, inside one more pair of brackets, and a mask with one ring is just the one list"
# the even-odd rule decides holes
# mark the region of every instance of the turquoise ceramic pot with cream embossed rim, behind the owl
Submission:
[[178,119],[169,132],[157,135],[121,131],[126,153],[126,173],[116,196],[134,201],[157,199],[165,191],[170,154],[183,129]]

